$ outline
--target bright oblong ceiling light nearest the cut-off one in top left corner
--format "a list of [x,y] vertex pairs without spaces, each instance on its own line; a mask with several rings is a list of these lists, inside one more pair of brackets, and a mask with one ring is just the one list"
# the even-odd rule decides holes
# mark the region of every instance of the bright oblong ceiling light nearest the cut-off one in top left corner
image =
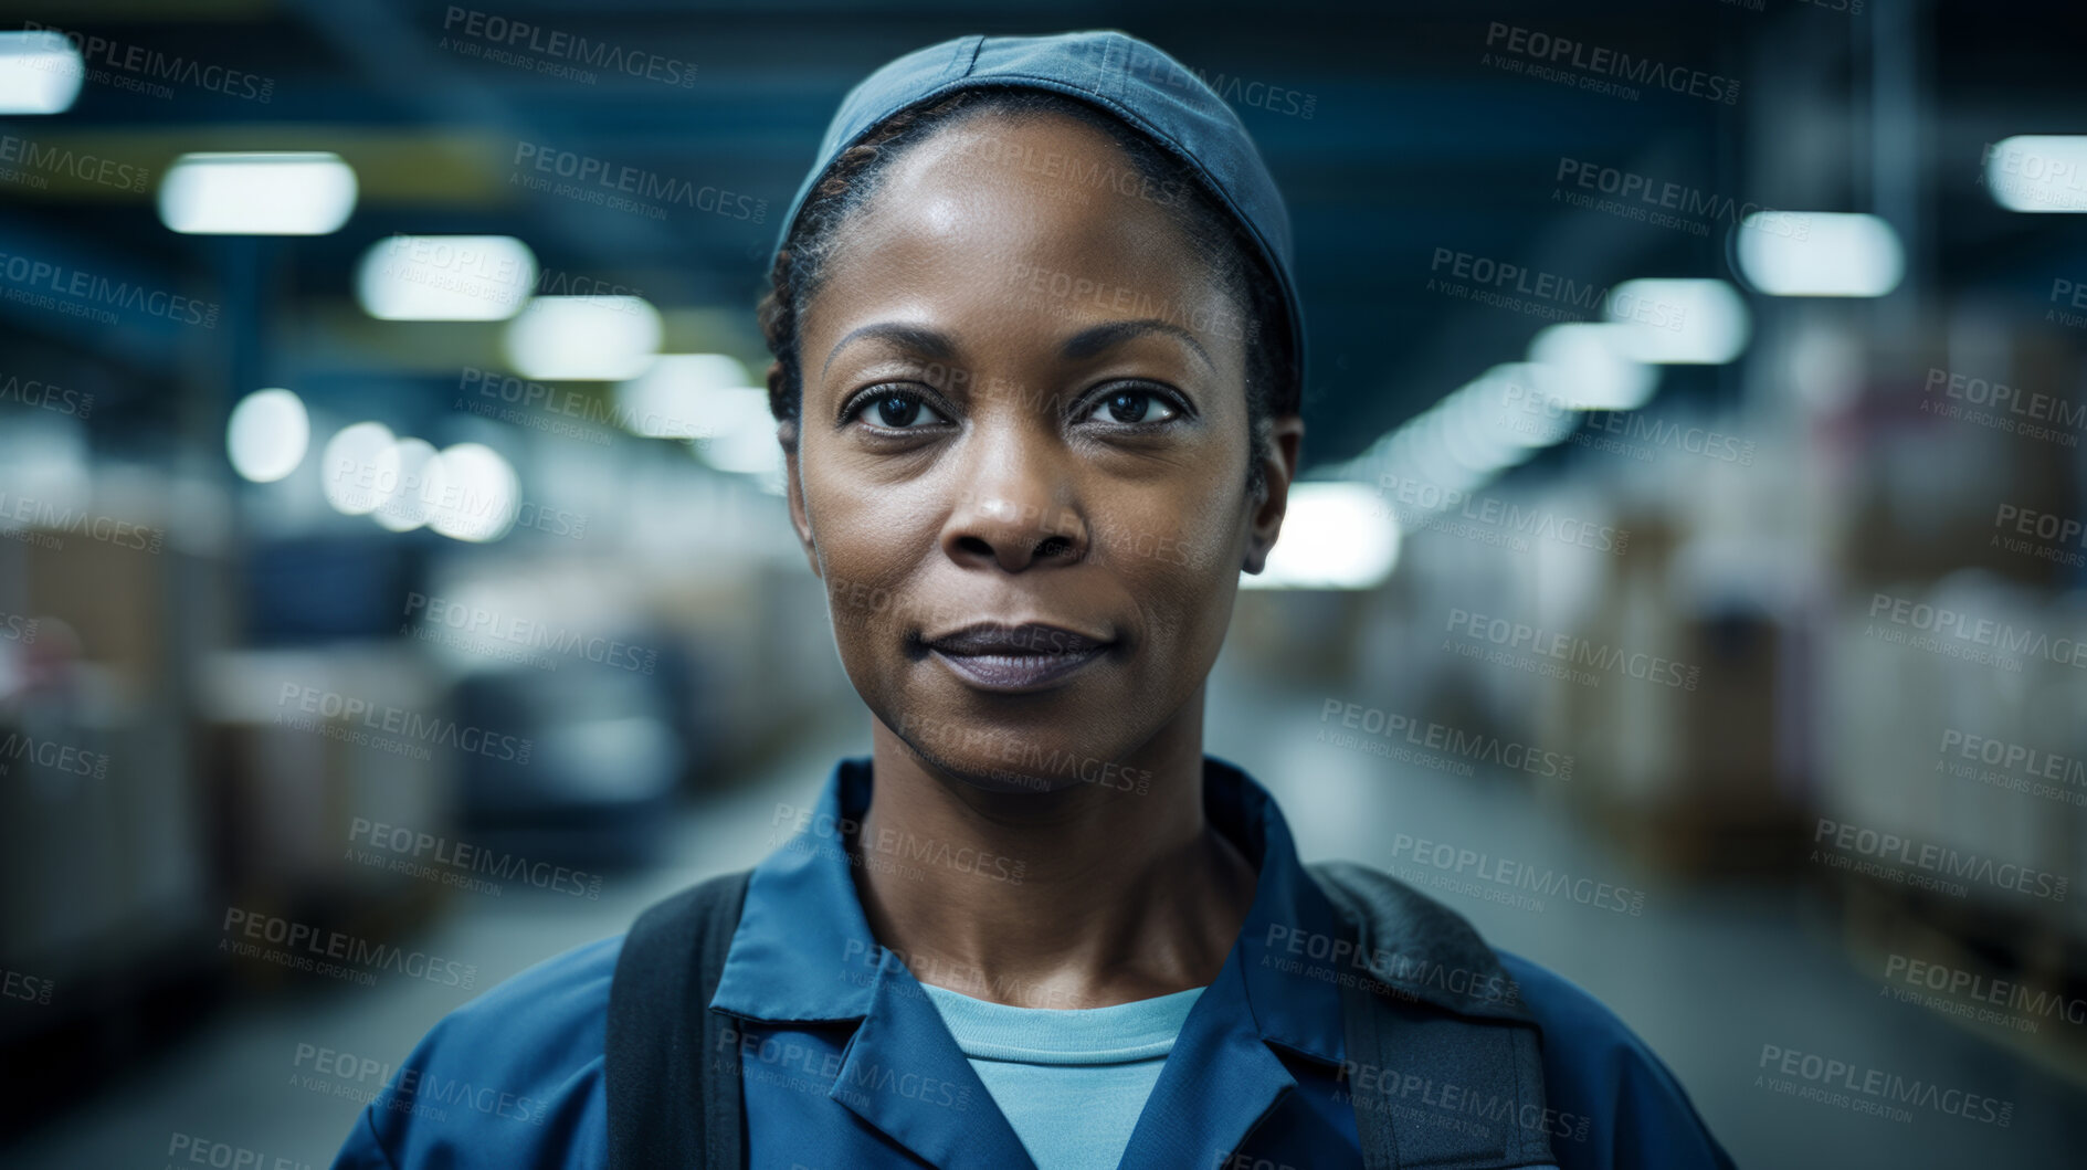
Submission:
[[323,150],[182,154],[159,219],[190,236],[326,236],[355,211],[355,171]]

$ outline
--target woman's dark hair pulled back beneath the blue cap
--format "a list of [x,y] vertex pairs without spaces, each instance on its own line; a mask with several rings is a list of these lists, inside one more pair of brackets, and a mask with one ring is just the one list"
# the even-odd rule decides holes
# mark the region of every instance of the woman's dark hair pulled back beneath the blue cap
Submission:
[[[760,302],[762,336],[776,363],[768,380],[768,409],[785,423],[783,440],[795,444],[803,407],[803,371],[797,355],[797,323],[818,292],[829,259],[841,242],[841,225],[877,194],[877,179],[908,148],[979,115],[1039,117],[1062,115],[1100,129],[1131,161],[1140,192],[1173,213],[1196,254],[1210,265],[1219,286],[1242,315],[1246,338],[1246,421],[1248,492],[1265,488],[1261,450],[1269,442],[1277,413],[1296,413],[1290,317],[1281,286],[1269,273],[1258,244],[1229,211],[1219,206],[1192,171],[1144,133],[1114,115],[1077,98],[1046,90],[958,90],[933,104],[912,106],[881,121],[856,146],[843,150],[812,194],[806,196],[789,238],[768,271],[770,290]],[[1123,190],[1121,184],[1114,190]]]

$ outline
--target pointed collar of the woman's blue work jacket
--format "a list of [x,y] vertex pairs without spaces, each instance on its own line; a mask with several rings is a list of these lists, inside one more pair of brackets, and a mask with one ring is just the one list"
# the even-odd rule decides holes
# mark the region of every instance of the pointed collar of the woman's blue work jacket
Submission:
[[[1202,776],[1204,815],[1258,872],[1254,903],[1225,959],[1246,989],[1242,1007],[1263,1041],[1338,1064],[1338,974],[1313,957],[1323,959],[1346,930],[1298,861],[1267,788],[1215,757],[1204,757]],[[753,868],[714,1009],[764,1022],[870,1016],[885,949],[862,913],[845,849],[845,832],[868,807],[870,761],[856,757],[833,767],[810,811],[787,811],[795,832]],[[1229,986],[1227,978],[1217,986]]]

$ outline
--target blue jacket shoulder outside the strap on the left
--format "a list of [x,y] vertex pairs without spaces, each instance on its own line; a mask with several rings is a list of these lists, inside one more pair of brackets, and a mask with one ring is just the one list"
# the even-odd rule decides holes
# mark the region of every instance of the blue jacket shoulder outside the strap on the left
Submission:
[[442,1016],[363,1107],[334,1168],[603,1166],[603,1039],[624,936]]

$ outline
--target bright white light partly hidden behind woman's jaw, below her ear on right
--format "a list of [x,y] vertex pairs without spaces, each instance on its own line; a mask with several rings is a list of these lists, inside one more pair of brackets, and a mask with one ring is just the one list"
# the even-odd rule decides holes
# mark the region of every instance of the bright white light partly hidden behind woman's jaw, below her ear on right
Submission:
[[1242,588],[1375,588],[1398,563],[1398,521],[1377,490],[1342,480],[1290,486],[1284,530]]

